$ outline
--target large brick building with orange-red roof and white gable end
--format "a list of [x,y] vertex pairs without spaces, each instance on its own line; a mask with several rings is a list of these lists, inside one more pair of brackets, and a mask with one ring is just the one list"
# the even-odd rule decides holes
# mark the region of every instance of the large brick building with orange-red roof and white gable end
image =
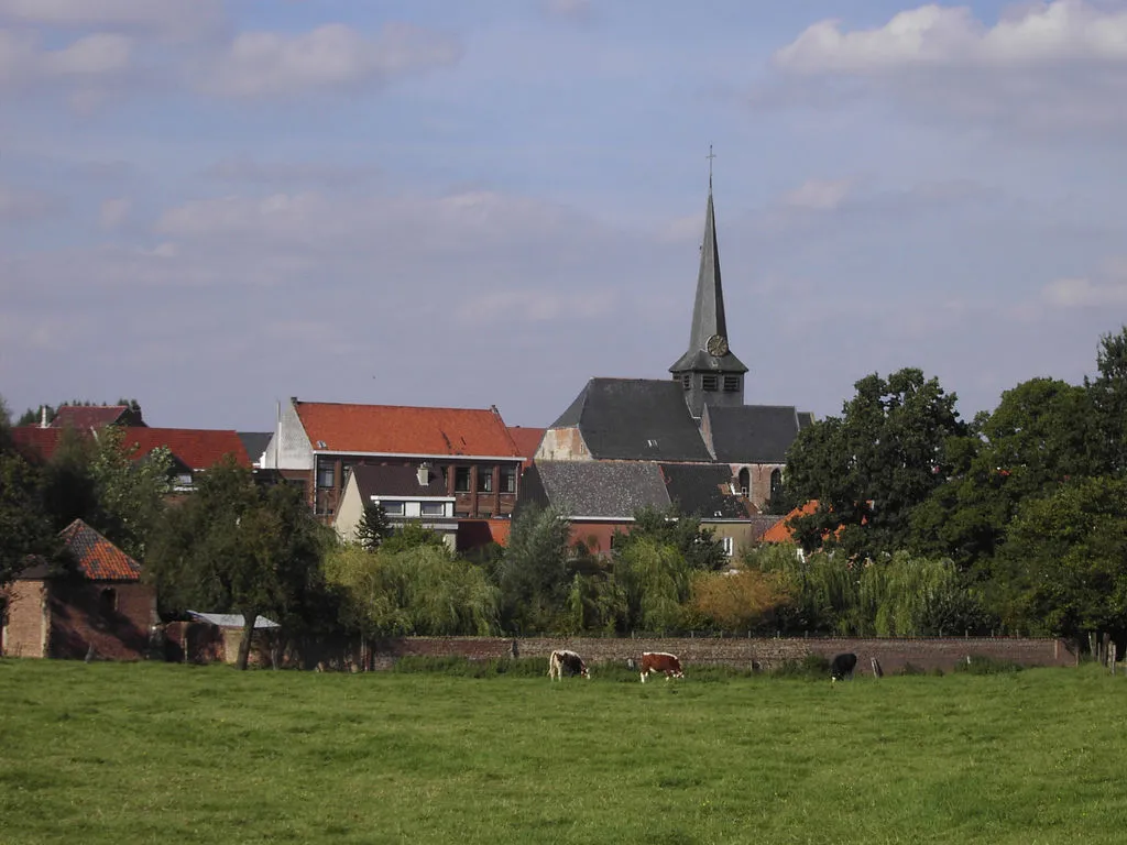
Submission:
[[[453,499],[454,518],[507,518],[523,461],[495,407],[344,404],[296,397],[279,408],[263,455],[265,469],[305,487],[313,513],[326,524],[336,518],[349,472],[358,465],[407,468],[409,474],[425,466],[427,490]],[[388,498],[400,500],[394,493]]]

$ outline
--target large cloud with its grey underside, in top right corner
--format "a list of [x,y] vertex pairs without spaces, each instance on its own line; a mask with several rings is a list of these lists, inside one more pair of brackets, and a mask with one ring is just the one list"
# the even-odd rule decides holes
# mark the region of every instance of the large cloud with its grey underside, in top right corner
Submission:
[[1121,2],[1024,3],[993,24],[968,7],[938,5],[869,29],[823,20],[777,51],[773,65],[779,75],[753,104],[825,107],[869,94],[926,121],[953,117],[1037,136],[1127,133]]

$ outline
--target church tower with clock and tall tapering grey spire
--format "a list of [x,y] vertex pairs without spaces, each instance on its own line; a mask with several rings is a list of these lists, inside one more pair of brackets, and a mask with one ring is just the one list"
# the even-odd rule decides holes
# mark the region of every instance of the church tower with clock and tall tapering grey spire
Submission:
[[[711,157],[711,150],[709,151]],[[712,174],[708,179],[708,211],[704,215],[704,242],[696,276],[696,301],[689,333],[689,350],[669,367],[674,381],[685,391],[685,402],[700,419],[704,406],[739,408],[744,404],[744,375],[747,367],[728,348],[728,324],[724,317],[724,288],[720,286],[720,250],[716,240],[712,211]]]

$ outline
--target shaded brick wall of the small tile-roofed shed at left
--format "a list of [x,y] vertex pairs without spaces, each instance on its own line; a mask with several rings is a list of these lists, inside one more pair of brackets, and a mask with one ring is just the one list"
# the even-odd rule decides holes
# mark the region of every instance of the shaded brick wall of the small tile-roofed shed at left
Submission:
[[[114,592],[113,607],[106,590]],[[136,581],[57,578],[50,582],[51,657],[137,660],[149,650],[157,624],[156,587]]]

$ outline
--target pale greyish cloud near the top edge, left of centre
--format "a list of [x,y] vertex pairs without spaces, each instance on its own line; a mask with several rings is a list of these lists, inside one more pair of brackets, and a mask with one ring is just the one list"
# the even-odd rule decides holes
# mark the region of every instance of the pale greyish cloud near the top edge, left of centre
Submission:
[[227,97],[277,97],[382,84],[454,64],[453,38],[407,24],[388,24],[374,38],[341,24],[300,35],[242,33],[201,75],[204,90]]

